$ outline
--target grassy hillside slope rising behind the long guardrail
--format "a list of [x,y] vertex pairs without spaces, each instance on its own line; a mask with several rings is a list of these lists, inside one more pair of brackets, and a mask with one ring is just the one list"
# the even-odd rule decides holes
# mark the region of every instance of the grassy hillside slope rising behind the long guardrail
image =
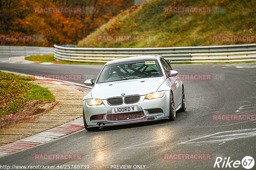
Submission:
[[[166,14],[163,12],[165,6],[224,6],[225,12]],[[123,11],[80,41],[78,47],[170,47],[256,43],[255,39],[231,42],[216,41],[212,37],[213,35],[254,35],[255,37],[255,16],[254,0],[207,2],[155,0]],[[102,35],[105,38],[107,35],[122,35],[122,38],[140,35],[142,39],[108,41],[102,39]]]

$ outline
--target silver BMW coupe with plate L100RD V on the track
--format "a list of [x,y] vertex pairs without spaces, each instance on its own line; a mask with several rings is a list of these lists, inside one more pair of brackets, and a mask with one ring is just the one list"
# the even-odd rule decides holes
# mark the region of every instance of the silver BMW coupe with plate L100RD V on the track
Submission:
[[186,110],[184,85],[170,62],[160,55],[108,61],[84,96],[83,117],[87,131],[100,127],[159,119],[175,120]]

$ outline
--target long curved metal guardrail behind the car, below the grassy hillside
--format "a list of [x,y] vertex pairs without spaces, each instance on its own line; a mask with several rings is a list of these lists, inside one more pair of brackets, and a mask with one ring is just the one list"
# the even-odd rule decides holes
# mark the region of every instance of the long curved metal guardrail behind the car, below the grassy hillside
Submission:
[[158,48],[76,48],[54,45],[56,60],[107,62],[117,58],[157,54],[172,63],[256,61],[256,44]]

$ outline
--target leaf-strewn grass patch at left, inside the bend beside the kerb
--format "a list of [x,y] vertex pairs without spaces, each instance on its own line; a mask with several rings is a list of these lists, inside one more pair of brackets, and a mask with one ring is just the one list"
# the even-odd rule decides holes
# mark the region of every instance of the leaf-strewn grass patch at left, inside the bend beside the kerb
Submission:
[[43,87],[28,83],[31,77],[0,71],[0,118],[15,114],[31,100],[55,101],[52,93]]

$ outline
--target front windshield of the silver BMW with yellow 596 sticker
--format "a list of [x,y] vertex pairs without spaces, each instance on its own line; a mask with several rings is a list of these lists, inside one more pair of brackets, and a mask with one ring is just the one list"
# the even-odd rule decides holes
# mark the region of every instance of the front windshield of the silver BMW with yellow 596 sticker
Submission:
[[107,65],[97,83],[162,76],[157,60],[133,61]]

